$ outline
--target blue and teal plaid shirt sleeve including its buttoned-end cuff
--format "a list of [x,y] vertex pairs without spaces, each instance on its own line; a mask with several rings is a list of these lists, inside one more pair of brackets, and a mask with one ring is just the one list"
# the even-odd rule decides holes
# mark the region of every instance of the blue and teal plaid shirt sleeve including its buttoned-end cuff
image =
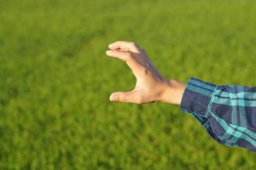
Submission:
[[256,87],[190,78],[180,105],[220,144],[256,151]]

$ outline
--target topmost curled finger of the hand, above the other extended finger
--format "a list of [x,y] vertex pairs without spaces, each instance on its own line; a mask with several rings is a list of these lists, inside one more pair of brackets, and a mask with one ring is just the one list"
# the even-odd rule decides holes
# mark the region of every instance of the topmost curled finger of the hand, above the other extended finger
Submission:
[[123,49],[134,53],[139,53],[140,48],[135,42],[117,41],[108,45],[110,49]]

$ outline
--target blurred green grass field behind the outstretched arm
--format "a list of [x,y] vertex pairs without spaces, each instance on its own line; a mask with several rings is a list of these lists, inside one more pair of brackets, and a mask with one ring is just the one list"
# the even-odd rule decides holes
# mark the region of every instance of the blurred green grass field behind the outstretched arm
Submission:
[[187,82],[256,84],[252,0],[0,0],[0,169],[255,169],[177,105],[111,103],[134,87],[116,40]]

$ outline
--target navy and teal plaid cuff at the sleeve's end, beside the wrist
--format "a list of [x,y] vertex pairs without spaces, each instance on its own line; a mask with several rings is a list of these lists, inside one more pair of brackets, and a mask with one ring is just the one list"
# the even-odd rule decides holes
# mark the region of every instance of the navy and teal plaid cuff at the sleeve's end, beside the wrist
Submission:
[[194,116],[207,118],[208,106],[216,88],[216,84],[190,78],[183,93],[181,110],[192,113]]

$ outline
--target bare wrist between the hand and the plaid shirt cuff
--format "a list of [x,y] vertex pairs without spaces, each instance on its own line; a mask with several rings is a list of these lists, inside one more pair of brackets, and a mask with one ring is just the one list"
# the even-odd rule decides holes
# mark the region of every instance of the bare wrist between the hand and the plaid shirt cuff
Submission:
[[180,105],[186,86],[176,80],[165,80],[160,95],[160,101]]

